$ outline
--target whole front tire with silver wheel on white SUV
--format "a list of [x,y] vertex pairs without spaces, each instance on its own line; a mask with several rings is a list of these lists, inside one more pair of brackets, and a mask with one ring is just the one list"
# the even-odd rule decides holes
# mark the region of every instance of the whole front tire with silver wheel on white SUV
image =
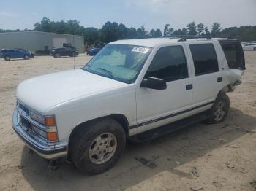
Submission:
[[124,128],[116,120],[104,118],[75,130],[69,144],[69,156],[79,171],[100,174],[117,163],[125,145]]

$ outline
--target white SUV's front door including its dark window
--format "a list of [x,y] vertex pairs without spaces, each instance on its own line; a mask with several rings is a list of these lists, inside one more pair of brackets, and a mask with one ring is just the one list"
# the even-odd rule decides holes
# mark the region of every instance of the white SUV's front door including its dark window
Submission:
[[136,86],[137,133],[165,125],[186,115],[192,101],[192,79],[183,45],[161,47],[144,79],[165,79],[165,90]]

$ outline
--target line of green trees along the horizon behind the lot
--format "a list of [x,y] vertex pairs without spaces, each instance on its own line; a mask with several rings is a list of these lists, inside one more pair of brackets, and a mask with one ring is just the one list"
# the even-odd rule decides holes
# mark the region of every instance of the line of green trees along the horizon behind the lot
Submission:
[[[20,30],[3,30],[1,32],[20,31]],[[94,28],[80,25],[78,20],[60,20],[53,21],[47,17],[43,17],[40,22],[34,24],[34,29],[25,29],[23,31],[43,31],[53,32],[59,34],[74,34],[84,36],[86,44],[93,44],[98,42],[112,42],[118,39],[138,39],[138,38],[154,38],[162,36],[176,36],[176,35],[199,35],[199,36],[225,36],[241,41],[256,40],[256,26],[241,26],[230,27],[222,29],[219,23],[213,23],[211,30],[203,23],[196,24],[194,21],[187,24],[184,28],[173,29],[170,24],[165,24],[163,33],[161,29],[151,29],[146,31],[144,26],[140,28],[127,28],[122,23],[106,22],[102,28]]]

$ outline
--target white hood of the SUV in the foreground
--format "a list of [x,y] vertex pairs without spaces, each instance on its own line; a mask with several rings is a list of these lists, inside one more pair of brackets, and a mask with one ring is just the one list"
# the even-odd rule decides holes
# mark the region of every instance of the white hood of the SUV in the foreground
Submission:
[[18,85],[17,98],[37,112],[75,98],[101,93],[127,84],[82,69],[27,79]]

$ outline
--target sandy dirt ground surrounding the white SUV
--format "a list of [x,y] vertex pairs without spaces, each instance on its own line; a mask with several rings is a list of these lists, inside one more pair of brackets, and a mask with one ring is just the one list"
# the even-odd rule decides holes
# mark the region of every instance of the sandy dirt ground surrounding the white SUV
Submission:
[[[255,190],[250,182],[256,181],[256,52],[245,55],[243,84],[228,93],[231,108],[225,122],[129,143],[117,165],[97,176],[80,174],[70,163],[50,168],[12,130],[18,83],[73,69],[73,58],[0,61],[0,190]],[[75,68],[89,58],[75,58]],[[157,167],[148,168],[135,157]]]

